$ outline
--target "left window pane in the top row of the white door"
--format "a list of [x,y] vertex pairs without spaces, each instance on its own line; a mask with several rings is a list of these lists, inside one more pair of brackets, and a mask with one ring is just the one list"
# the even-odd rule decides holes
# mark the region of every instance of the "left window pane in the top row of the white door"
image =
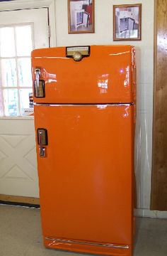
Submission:
[[0,28],[1,57],[15,56],[14,28]]

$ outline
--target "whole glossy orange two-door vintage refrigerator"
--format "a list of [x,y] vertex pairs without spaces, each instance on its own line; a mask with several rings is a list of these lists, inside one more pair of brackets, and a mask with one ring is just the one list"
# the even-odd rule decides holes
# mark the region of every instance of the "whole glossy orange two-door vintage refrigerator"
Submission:
[[42,235],[48,248],[132,255],[132,46],[33,50]]

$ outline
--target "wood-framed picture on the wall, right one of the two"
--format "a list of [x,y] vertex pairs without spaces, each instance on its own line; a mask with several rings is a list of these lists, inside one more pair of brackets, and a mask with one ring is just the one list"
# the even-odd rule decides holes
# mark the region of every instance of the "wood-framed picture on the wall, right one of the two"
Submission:
[[113,6],[113,40],[141,40],[142,4]]

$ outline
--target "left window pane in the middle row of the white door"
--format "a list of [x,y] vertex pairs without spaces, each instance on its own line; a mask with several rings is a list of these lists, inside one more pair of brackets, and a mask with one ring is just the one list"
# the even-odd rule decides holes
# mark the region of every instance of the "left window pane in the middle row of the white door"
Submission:
[[17,86],[16,60],[1,60],[1,82],[4,87]]

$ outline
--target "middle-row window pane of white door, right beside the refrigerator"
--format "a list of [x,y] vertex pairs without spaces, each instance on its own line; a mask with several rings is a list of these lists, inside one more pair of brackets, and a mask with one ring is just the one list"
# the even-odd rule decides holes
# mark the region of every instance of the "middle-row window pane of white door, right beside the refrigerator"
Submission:
[[32,86],[30,58],[18,59],[18,84],[23,87]]

